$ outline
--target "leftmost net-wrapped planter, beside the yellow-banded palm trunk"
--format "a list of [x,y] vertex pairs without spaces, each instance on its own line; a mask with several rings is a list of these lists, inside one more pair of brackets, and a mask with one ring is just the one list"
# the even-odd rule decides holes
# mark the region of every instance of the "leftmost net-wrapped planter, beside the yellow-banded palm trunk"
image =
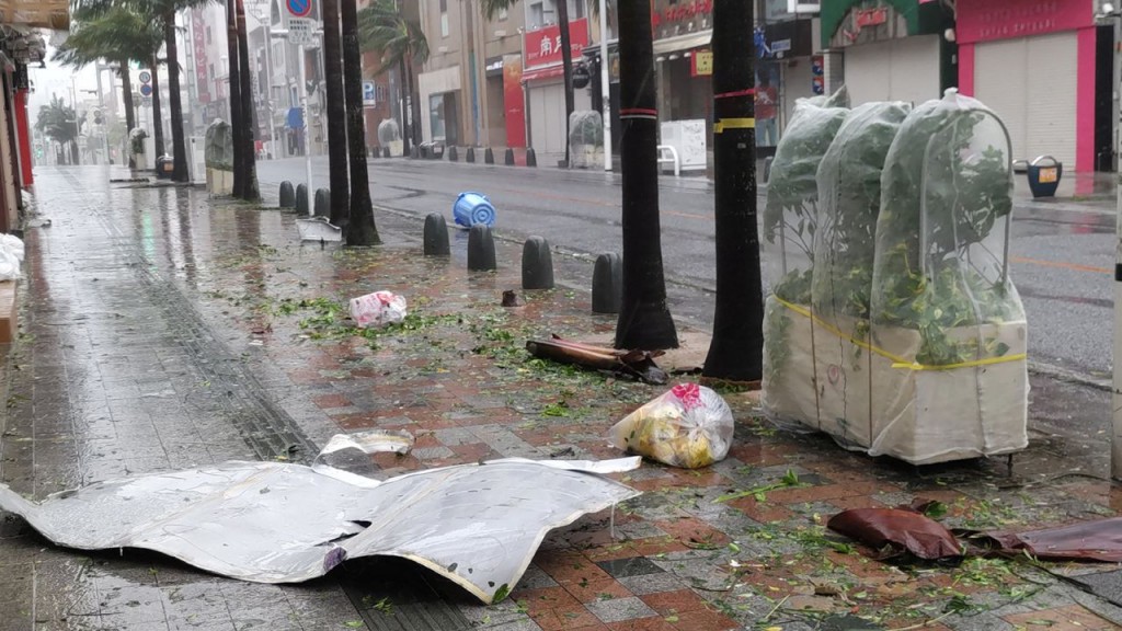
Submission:
[[[844,100],[839,91],[837,101]],[[818,226],[818,165],[849,110],[800,100],[775,148],[764,207],[764,304],[761,403],[775,419],[817,424],[810,284]]]

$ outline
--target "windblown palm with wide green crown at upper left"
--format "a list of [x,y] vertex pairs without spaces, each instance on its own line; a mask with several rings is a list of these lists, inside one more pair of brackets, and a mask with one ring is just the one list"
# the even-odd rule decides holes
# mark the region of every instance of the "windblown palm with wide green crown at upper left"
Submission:
[[[125,122],[129,130],[134,129],[136,113],[129,63],[151,63],[163,44],[158,25],[123,4],[89,3],[76,10],[73,17],[73,31],[52,58],[74,68],[99,60],[117,64],[123,85]],[[158,109],[156,118],[159,118]],[[131,157],[129,162],[131,166]]]

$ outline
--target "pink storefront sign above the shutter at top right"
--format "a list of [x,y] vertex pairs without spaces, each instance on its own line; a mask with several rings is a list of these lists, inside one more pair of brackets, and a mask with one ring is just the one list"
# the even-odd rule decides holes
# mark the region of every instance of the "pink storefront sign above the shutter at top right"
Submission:
[[959,0],[960,44],[1030,37],[1094,25],[1087,0]]

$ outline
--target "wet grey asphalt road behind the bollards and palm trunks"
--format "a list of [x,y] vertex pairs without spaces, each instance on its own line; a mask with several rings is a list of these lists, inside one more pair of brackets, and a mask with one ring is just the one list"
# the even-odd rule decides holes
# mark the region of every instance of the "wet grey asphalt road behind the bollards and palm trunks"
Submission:
[[[258,174],[263,194],[275,199],[280,181],[303,181],[304,162],[260,162]],[[313,179],[315,188],[327,185],[325,157],[313,158]],[[370,182],[375,204],[384,211],[419,220],[443,212],[449,223],[459,193],[481,192],[497,209],[499,236],[540,235],[574,253],[576,258],[555,264],[561,278],[578,284],[588,283],[597,254],[620,250],[618,174],[376,159]],[[715,287],[712,186],[705,179],[663,177],[660,188],[671,309],[678,318],[708,324]],[[1114,222],[1113,201],[1036,202],[1018,190],[1010,257],[1037,365],[1109,377]]]

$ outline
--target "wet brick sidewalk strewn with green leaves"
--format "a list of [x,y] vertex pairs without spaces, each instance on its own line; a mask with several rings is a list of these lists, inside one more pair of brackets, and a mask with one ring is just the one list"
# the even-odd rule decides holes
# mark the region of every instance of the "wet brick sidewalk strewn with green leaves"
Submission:
[[[333,433],[371,428],[416,437],[406,456],[360,463],[378,476],[500,456],[616,457],[607,428],[663,390],[526,355],[527,338],[604,338],[615,322],[590,314],[587,292],[571,289],[499,307],[519,282],[516,241],[500,241],[497,273],[468,273],[462,232],[451,259],[425,259],[420,221],[399,214],[378,216],[385,245],[347,250],[301,245],[292,214],[197,189],[110,185],[96,167],[43,170],[37,181],[0,424],[0,479],[28,496],[226,459],[306,461]],[[587,286],[587,277],[567,281]],[[407,296],[406,326],[353,329],[346,300],[383,289]],[[946,503],[953,527],[1113,515],[1120,495],[1101,479],[1103,449],[1083,445],[1073,456],[1080,446],[1060,449],[1037,429],[1011,473],[1004,461],[913,468],[779,431],[755,418],[749,394],[725,394],[738,419],[729,458],[696,472],[644,464],[623,476],[645,494],[554,531],[494,606],[405,561],[352,561],[307,585],[256,585],[136,550],[55,549],[4,515],[0,629],[1122,623],[1109,594],[1119,584],[1113,566],[895,566],[822,527],[843,509],[914,497]],[[799,485],[783,482],[791,474]],[[751,490],[760,491],[716,501]]]

